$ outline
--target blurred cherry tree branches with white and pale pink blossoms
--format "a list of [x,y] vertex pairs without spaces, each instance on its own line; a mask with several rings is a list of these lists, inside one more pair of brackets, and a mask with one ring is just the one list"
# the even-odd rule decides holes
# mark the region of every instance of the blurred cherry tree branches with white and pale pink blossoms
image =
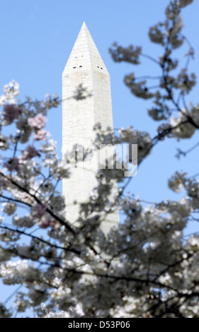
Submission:
[[[133,95],[152,101],[148,113],[160,121],[157,135],[132,126],[112,133],[98,125],[96,146],[137,144],[140,165],[161,141],[191,138],[198,131],[199,105],[188,104],[195,85],[195,74],[188,70],[194,51],[181,19],[191,2],[171,0],[164,22],[149,29],[149,39],[162,47],[159,58],[132,45],[115,43],[110,49],[116,62],[139,65],[147,58],[157,65],[156,78],[125,76]],[[188,52],[180,68],[174,54],[182,45]],[[156,87],[149,88],[150,79],[157,80]],[[70,176],[72,153],[60,160],[45,130],[48,110],[61,100],[46,95],[42,101],[26,97],[21,102],[18,94],[13,81],[0,97],[0,277],[5,285],[16,285],[15,309],[1,303],[0,316],[32,309],[47,317],[198,317],[199,236],[183,237],[189,220],[198,220],[196,177],[176,171],[169,188],[183,191],[183,198],[146,205],[136,198],[139,193],[126,194],[132,178],[125,178],[124,167],[98,170],[98,185],[79,207],[74,226],[58,190]],[[114,201],[109,199],[113,179],[119,184]],[[104,235],[101,223],[115,210],[125,215],[123,223]]]

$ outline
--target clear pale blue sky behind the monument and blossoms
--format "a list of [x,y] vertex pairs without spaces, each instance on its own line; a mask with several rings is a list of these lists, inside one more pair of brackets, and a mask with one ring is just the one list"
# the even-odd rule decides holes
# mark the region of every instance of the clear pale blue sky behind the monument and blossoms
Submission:
[[[81,25],[85,20],[101,57],[110,73],[113,122],[115,128],[132,125],[135,129],[156,134],[157,124],[147,115],[147,102],[137,100],[123,83],[126,73],[136,71],[140,76],[154,72],[154,65],[144,61],[143,66],[115,64],[108,47],[117,41],[120,45],[142,45],[145,54],[161,54],[158,45],[149,42],[149,27],[164,19],[168,0],[0,0],[0,94],[4,84],[12,79],[21,85],[24,95],[42,98],[45,93],[62,95],[62,71],[72,50]],[[191,69],[199,71],[199,1],[183,10],[183,32],[195,48]],[[184,54],[187,49],[179,49]],[[198,102],[198,85],[190,99]],[[62,107],[50,111],[47,129],[62,148]],[[197,135],[192,143],[197,143]],[[131,191],[147,201],[178,198],[167,189],[167,179],[175,170],[198,172],[198,154],[192,153],[180,161],[174,158],[176,148],[190,148],[190,141],[159,143],[132,179]],[[1,299],[0,299],[1,300]]]

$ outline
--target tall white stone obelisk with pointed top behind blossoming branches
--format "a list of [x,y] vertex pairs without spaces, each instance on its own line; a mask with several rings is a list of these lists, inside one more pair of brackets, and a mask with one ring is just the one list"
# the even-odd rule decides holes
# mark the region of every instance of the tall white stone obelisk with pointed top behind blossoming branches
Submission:
[[[79,88],[86,89],[87,97],[74,97]],[[86,147],[91,144],[95,124],[100,123],[103,129],[113,129],[110,76],[86,23],[81,27],[62,73],[62,105],[63,158],[75,144]],[[78,203],[88,200],[96,186],[96,160],[87,165],[86,169],[73,169],[71,177],[63,180],[67,220],[72,223],[76,223],[79,215]],[[108,215],[102,229],[106,233],[118,223],[119,213],[116,211]]]

